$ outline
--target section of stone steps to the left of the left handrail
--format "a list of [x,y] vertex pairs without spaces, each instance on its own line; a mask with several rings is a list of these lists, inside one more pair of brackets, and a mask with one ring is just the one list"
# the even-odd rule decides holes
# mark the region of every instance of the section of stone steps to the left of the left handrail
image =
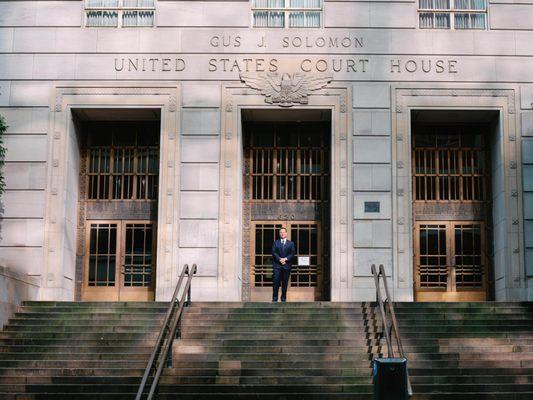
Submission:
[[167,303],[25,302],[0,333],[0,399],[132,399]]

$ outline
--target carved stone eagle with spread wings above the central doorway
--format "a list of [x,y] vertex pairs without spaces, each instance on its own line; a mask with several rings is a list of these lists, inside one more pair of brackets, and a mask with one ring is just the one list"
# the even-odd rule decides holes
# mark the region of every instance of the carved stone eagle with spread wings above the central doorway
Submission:
[[241,74],[241,81],[252,89],[261,91],[265,102],[291,107],[295,103],[307,104],[313,90],[326,86],[333,79],[331,75],[310,75],[270,72],[264,75]]

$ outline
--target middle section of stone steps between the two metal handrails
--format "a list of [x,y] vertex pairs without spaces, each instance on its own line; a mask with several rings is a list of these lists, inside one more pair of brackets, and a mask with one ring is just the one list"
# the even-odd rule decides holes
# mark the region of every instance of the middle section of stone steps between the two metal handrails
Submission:
[[193,303],[159,398],[369,399],[373,323],[361,303]]

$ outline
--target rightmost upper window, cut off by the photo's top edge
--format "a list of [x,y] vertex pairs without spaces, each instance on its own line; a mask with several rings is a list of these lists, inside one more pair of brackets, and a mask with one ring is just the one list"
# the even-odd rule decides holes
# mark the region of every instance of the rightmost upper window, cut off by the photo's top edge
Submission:
[[487,29],[486,0],[419,0],[420,28]]

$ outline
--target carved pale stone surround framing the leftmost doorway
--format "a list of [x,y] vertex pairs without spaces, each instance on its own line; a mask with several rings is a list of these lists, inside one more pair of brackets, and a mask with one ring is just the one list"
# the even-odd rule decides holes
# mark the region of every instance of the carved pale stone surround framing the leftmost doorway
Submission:
[[[174,173],[174,167],[179,162],[178,141],[173,140],[179,127],[179,96],[177,85],[142,82],[58,82],[50,97],[50,132],[54,140],[48,143],[46,208],[45,208],[45,265],[41,298],[54,300],[79,299],[80,284],[83,273],[80,255],[84,248],[86,234],[83,221],[87,214],[76,199],[84,196],[84,184],[81,180],[69,179],[73,174],[73,166],[79,165],[80,174],[85,173],[85,163],[80,162],[73,151],[78,146],[76,127],[70,116],[73,108],[157,108],[161,110],[161,165],[166,165],[160,171],[160,187],[164,188],[159,197],[158,210],[158,248],[157,248],[157,290],[156,297],[165,300],[172,288],[166,287],[165,277],[175,275],[174,266],[177,262],[177,247],[169,254],[165,251],[166,243],[177,243],[177,223],[172,228],[165,227],[166,223],[174,222],[174,210],[179,208],[178,196],[174,196],[178,187],[179,177]],[[163,196],[166,193],[166,196]],[[72,221],[67,218],[72,207],[78,207],[77,218]],[[75,249],[69,249],[69,242],[76,236]],[[75,283],[68,276],[75,276]],[[50,279],[50,277],[52,277]],[[169,281],[169,280],[168,280]],[[167,295],[168,293],[168,295]]]

